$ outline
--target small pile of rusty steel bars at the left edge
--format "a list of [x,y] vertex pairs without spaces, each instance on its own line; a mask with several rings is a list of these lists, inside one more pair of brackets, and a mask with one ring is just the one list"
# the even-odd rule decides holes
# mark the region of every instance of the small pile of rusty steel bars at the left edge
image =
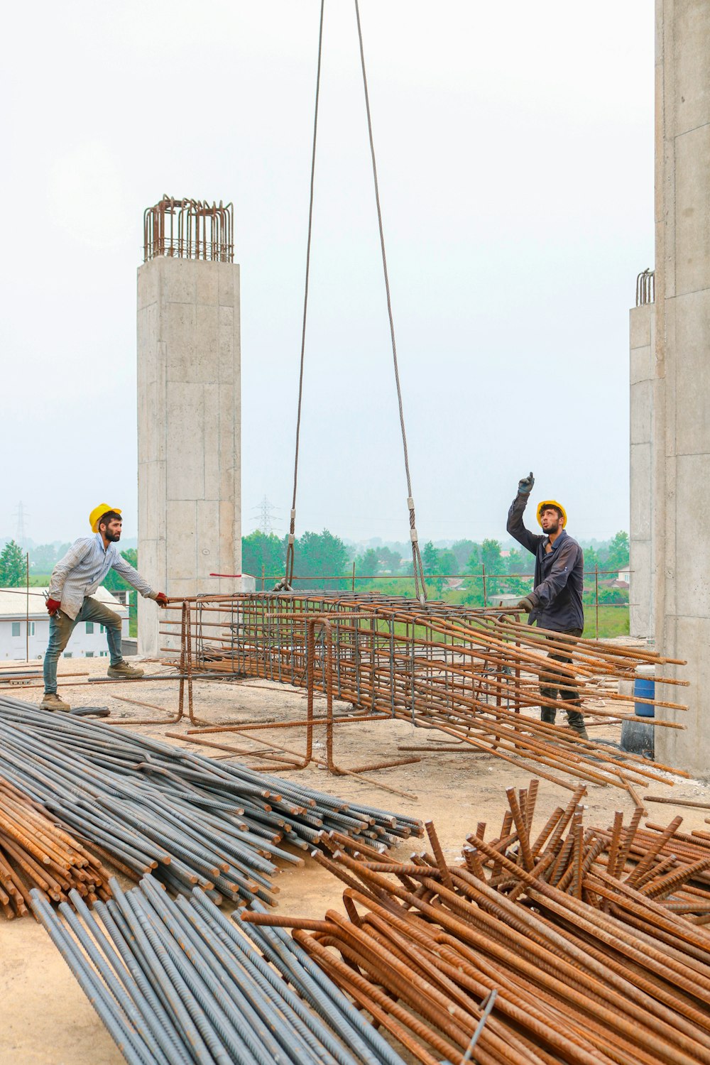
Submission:
[[47,810],[0,776],[0,904],[6,918],[29,913],[31,887],[54,902],[76,888],[92,903],[109,897],[108,879],[101,863]]

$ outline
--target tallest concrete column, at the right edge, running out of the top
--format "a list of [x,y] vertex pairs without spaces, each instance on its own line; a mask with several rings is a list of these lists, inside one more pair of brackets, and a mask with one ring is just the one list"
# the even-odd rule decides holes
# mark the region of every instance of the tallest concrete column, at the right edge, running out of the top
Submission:
[[[710,773],[710,4],[657,0],[654,599],[689,702],[656,756]],[[673,670],[668,670],[673,672]]]

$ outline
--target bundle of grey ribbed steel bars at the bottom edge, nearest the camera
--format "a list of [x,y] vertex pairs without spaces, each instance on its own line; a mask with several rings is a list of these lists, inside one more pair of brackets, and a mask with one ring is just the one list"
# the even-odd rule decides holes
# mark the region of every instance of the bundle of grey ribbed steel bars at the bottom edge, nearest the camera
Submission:
[[92,913],[34,911],[131,1065],[404,1065],[279,930],[243,932],[200,890],[152,879]]

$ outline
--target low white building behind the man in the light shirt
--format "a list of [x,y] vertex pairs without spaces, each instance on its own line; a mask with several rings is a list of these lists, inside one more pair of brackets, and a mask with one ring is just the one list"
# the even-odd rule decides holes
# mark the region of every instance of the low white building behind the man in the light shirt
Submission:
[[[24,661],[45,657],[49,642],[49,615],[45,606],[46,588],[30,588],[28,600],[22,588],[0,588],[0,661]],[[128,607],[106,589],[99,588],[93,599],[105,603],[122,619],[121,635],[128,639]],[[28,611],[29,602],[29,611]],[[29,653],[28,653],[29,613]],[[109,648],[103,625],[80,621],[71,634],[65,658],[108,658]]]

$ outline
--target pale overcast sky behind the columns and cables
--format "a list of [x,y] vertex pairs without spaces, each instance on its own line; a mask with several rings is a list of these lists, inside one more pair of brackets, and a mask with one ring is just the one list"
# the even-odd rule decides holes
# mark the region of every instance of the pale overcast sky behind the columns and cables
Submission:
[[[0,537],[137,532],[135,273],[164,193],[232,200],[243,527],[291,506],[317,0],[12,4]],[[417,525],[505,538],[517,480],[628,528],[628,310],[653,266],[653,5],[361,13]],[[353,5],[327,0],[297,532],[408,537]]]

